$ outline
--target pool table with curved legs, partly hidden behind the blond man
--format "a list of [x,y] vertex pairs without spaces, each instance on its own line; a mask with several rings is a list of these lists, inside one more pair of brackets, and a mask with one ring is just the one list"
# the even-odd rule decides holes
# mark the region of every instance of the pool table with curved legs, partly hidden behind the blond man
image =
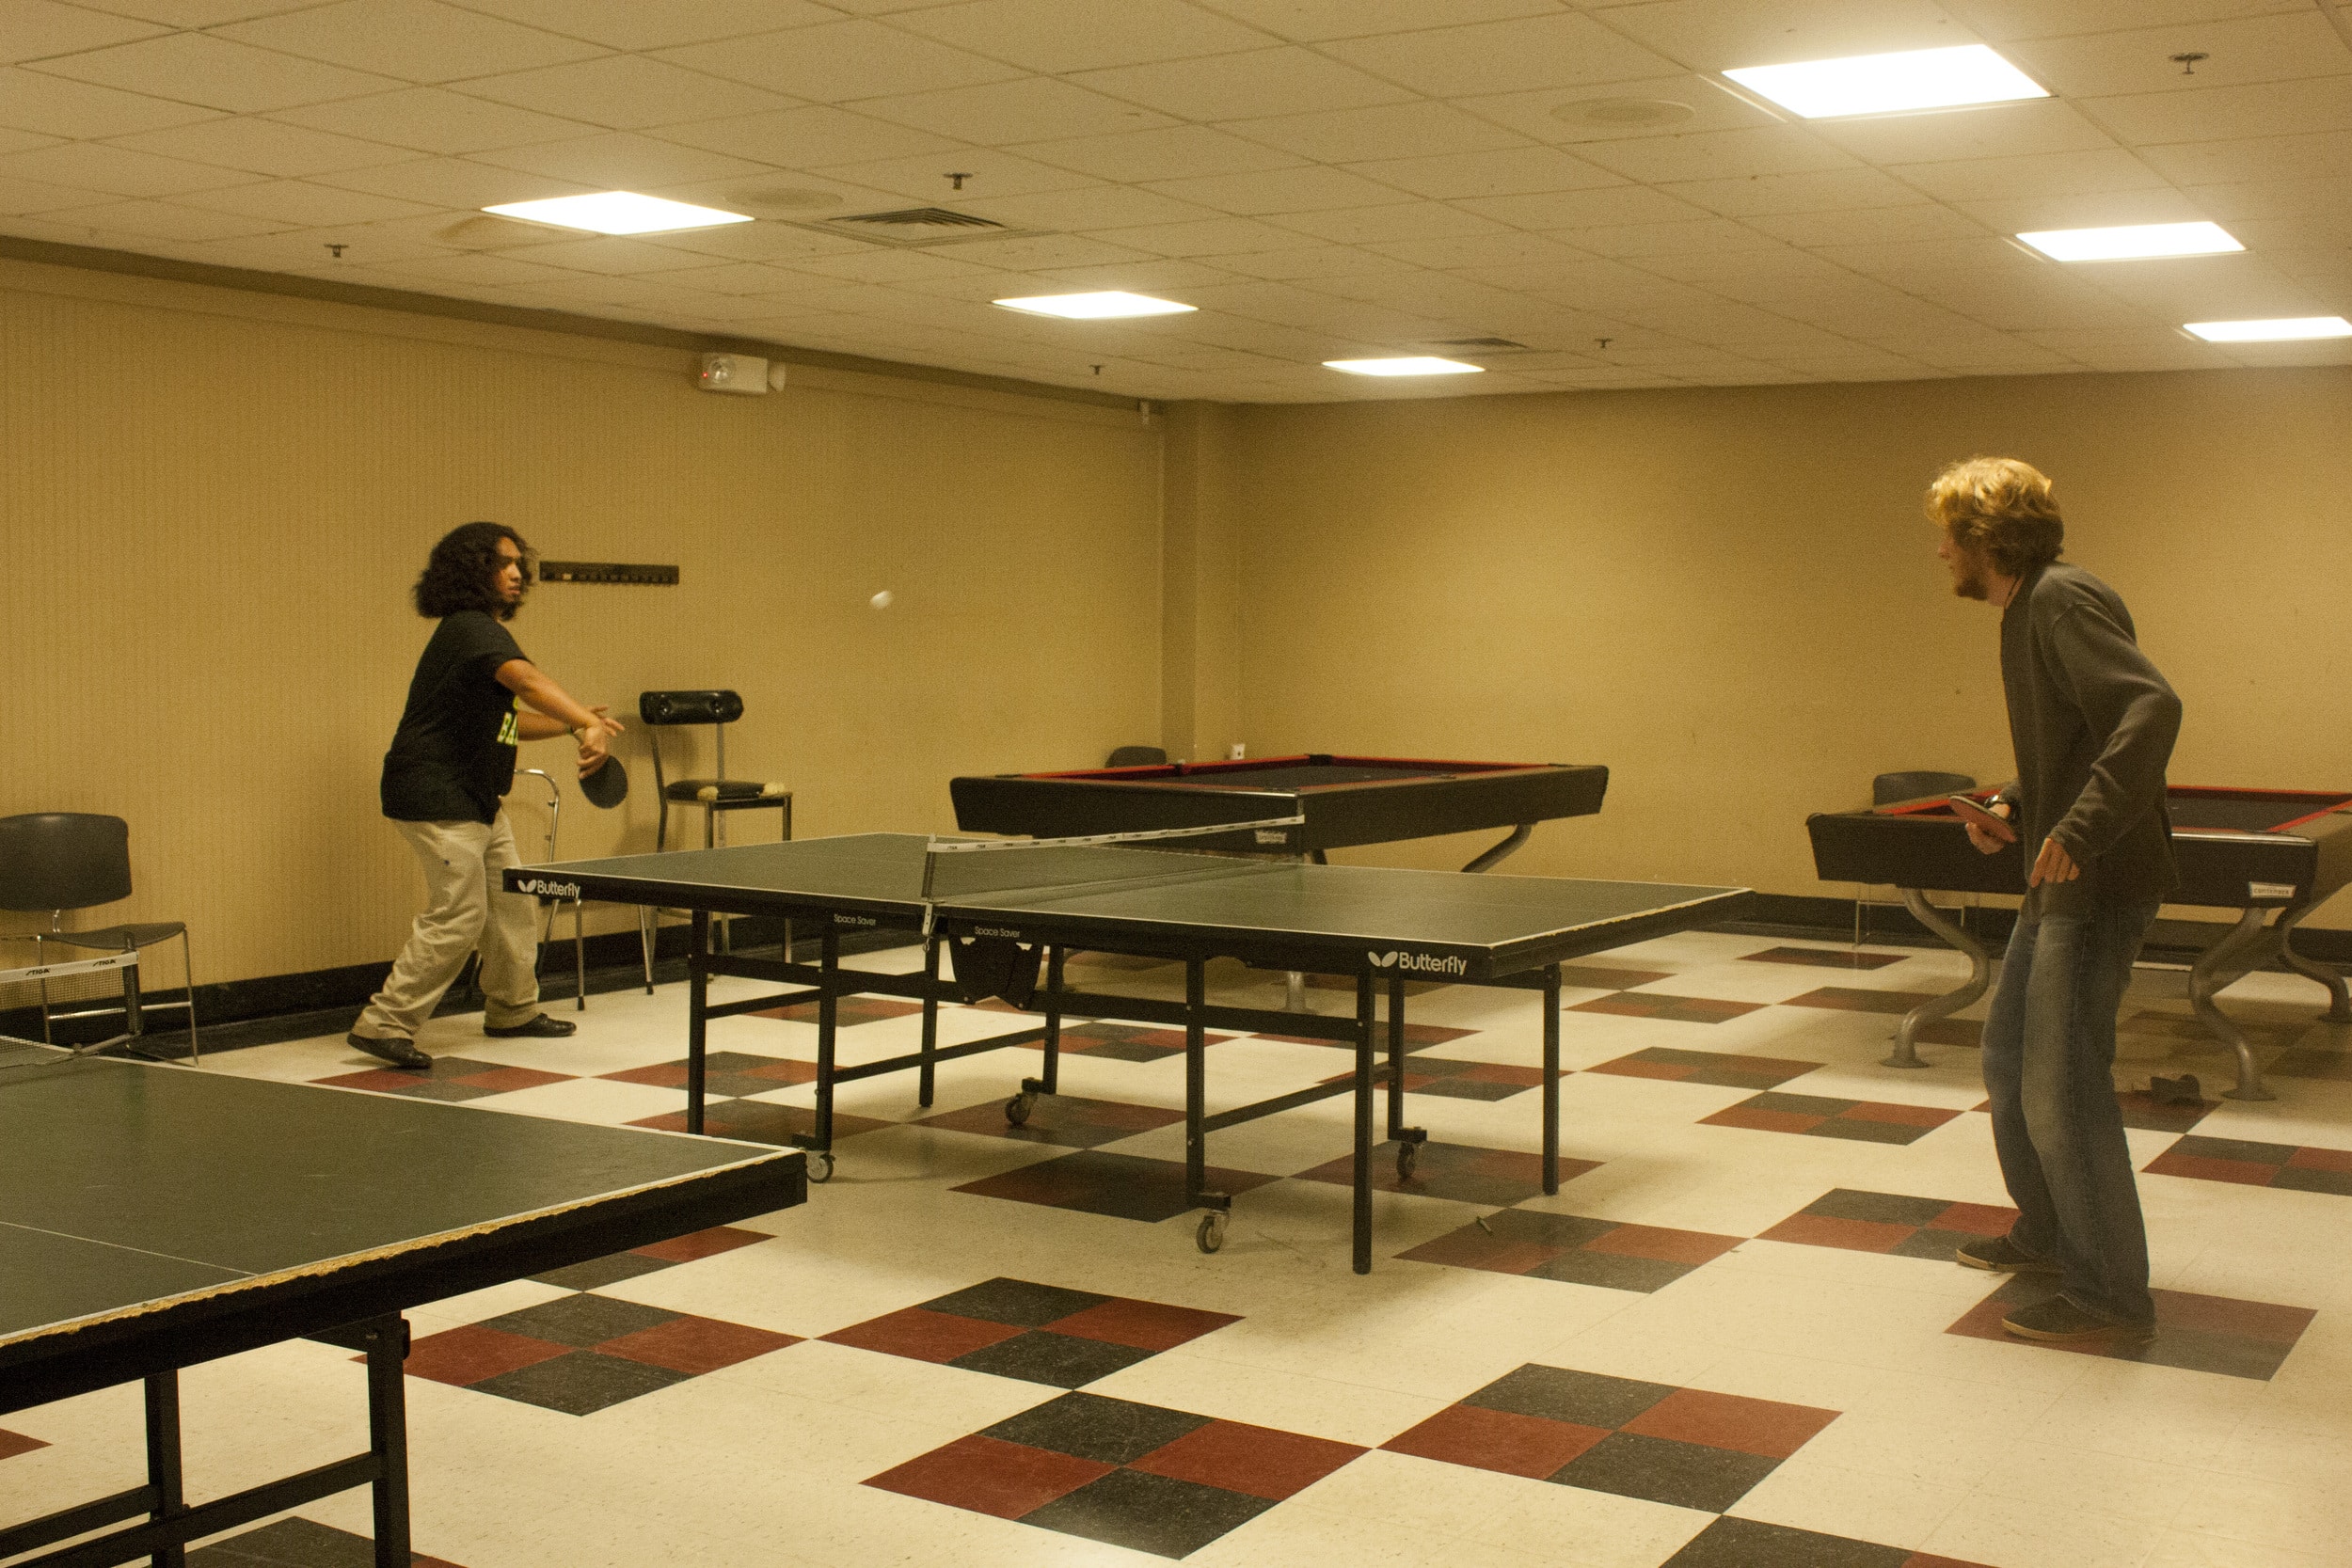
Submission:
[[[1990,799],[1992,790],[1973,790]],[[2171,905],[2237,910],[2237,922],[2190,969],[2190,1006],[2237,1053],[2234,1100],[2270,1100],[2253,1048],[2216,1006],[2216,997],[2279,959],[2328,987],[2328,1023],[2352,1023],[2345,978],[2293,947],[2303,917],[2352,884],[2352,792],[2234,790],[2173,785],[2164,795],[2173,820],[2180,886]],[[1823,882],[1893,884],[1903,905],[1936,936],[1969,954],[1969,983],[1924,1001],[1896,1027],[1889,1067],[1919,1067],[1917,1032],[1976,1001],[1992,978],[1992,959],[1964,929],[1926,903],[1929,891],[2023,893],[2025,846],[1985,856],[1969,844],[1959,816],[1943,797],[1898,802],[1872,811],[1823,811],[1804,823],[1813,839],[1813,870]]]

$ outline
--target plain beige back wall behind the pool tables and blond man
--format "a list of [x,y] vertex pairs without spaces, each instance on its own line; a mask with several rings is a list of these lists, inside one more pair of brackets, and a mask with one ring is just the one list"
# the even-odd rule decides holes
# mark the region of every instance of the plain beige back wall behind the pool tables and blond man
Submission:
[[1851,893],[1809,811],[2009,773],[1997,618],[1919,520],[1940,463],[2009,451],[2180,689],[2176,780],[2352,790],[2347,430],[2345,369],[1249,409],[1242,738],[1606,762],[1604,813],[1515,870]]

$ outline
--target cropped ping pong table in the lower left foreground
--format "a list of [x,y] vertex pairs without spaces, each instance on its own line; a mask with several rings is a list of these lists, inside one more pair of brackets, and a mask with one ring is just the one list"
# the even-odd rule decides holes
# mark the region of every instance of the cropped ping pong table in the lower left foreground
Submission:
[[[0,1415],[146,1385],[146,1486],[0,1523],[16,1568],[179,1568],[186,1544],[374,1490],[409,1563],[409,1307],[807,1199],[804,1157],[0,1046]],[[285,1340],[367,1359],[367,1453],[188,1505],[179,1368]]]

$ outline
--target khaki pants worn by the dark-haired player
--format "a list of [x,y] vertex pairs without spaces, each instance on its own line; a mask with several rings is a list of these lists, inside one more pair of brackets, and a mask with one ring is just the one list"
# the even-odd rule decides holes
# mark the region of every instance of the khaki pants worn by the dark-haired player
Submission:
[[539,1016],[539,900],[499,891],[499,872],[522,865],[506,813],[496,823],[393,823],[423,865],[430,905],[416,917],[383,990],[353,1032],[416,1039],[442,992],[482,952],[482,1023],[510,1027]]

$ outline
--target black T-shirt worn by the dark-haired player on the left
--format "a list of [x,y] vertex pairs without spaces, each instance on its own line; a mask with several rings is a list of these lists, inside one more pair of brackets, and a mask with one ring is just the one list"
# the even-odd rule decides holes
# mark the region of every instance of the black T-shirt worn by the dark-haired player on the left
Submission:
[[494,823],[515,785],[515,715],[522,698],[496,670],[522,658],[499,618],[480,609],[442,616],[416,661],[409,705],[383,752],[383,816],[395,823]]

